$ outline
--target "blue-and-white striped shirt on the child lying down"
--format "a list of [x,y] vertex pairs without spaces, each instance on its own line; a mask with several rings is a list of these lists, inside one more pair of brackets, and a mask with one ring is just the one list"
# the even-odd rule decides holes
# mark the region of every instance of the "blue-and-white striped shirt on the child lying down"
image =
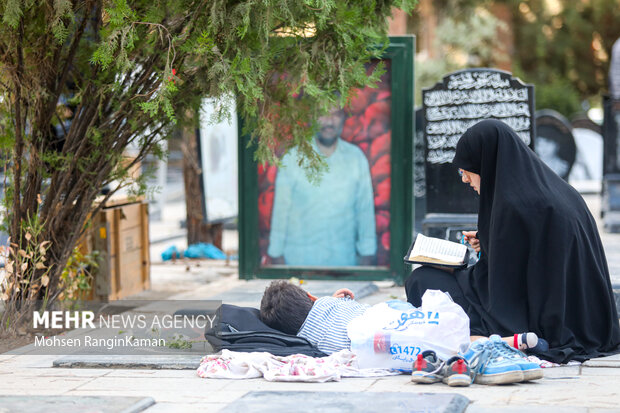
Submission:
[[325,354],[349,350],[347,325],[369,307],[349,298],[321,297],[314,302],[297,335]]

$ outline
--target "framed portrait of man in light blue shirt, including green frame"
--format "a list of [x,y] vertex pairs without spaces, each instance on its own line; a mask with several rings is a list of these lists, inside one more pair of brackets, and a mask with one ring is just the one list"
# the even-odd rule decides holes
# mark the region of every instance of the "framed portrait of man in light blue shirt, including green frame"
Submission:
[[413,234],[414,44],[413,36],[391,37],[366,67],[384,68],[375,87],[353,91],[344,108],[309,125],[327,164],[318,183],[296,149],[278,166],[257,164],[241,149],[250,135],[241,137],[240,278],[404,279]]

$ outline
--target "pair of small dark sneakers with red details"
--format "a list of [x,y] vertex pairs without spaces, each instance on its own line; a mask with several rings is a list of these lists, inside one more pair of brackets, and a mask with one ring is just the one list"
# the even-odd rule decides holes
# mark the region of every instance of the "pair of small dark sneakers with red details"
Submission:
[[442,361],[432,350],[418,354],[413,362],[411,381],[414,383],[431,384],[443,381],[448,386],[469,386],[471,384],[471,370],[467,361],[460,356],[454,356]]

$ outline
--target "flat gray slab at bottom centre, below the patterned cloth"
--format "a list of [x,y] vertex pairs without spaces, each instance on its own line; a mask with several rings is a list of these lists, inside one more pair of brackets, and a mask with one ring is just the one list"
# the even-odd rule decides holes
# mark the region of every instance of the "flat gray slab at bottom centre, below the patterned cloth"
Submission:
[[[303,403],[300,401],[303,400]],[[288,412],[445,412],[465,411],[469,399],[454,393],[376,393],[252,391],[232,402],[220,412],[288,413]]]

